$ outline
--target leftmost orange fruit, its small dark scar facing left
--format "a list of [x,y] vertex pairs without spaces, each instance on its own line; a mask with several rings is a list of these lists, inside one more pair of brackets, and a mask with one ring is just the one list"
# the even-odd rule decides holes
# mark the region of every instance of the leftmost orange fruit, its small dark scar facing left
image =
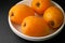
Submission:
[[16,4],[10,10],[9,16],[14,24],[21,25],[25,17],[35,16],[35,12],[25,4]]

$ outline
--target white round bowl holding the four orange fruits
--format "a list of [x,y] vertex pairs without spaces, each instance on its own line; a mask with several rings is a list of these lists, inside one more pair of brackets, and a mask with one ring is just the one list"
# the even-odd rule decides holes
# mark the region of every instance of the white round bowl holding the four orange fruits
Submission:
[[[24,1],[18,2],[17,4],[21,4],[21,3],[30,6],[31,0],[24,0]],[[61,9],[61,11],[63,12],[63,15],[64,15],[64,11],[63,11],[63,9],[62,9],[58,4],[55,3],[54,1],[52,1],[52,3],[55,4],[58,9]],[[51,33],[51,34],[49,34],[49,35],[46,35],[46,37],[38,37],[38,38],[37,38],[37,37],[28,37],[28,35],[23,34],[23,33],[20,31],[21,26],[12,24],[11,20],[10,20],[10,16],[9,16],[9,25],[10,25],[12,31],[13,31],[15,34],[17,34],[18,37],[21,37],[21,38],[23,38],[23,39],[25,39],[25,40],[29,40],[29,41],[44,41],[44,40],[49,40],[49,39],[55,37],[57,33],[60,33],[61,30],[62,30],[63,27],[64,27],[64,22],[63,22],[62,26],[61,26],[55,32],[53,32],[53,33]]]

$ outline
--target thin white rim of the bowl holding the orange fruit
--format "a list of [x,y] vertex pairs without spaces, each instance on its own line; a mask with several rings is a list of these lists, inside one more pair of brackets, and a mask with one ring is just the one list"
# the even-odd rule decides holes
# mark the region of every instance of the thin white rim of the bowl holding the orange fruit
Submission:
[[[20,1],[20,2],[22,2],[22,1]],[[20,3],[18,2],[18,3]],[[63,13],[63,15],[64,15],[64,11],[63,11],[63,9],[62,9],[62,6],[61,5],[58,5],[56,2],[54,2],[54,1],[52,1],[52,3],[54,3],[61,11],[62,11],[62,13]],[[29,37],[29,35],[26,35],[26,34],[23,34],[22,32],[20,32],[18,30],[16,30],[14,27],[13,27],[13,25],[12,25],[12,23],[11,23],[11,20],[10,20],[10,16],[9,16],[9,25],[10,25],[10,27],[11,27],[11,30],[15,33],[15,34],[17,34],[18,37],[21,37],[21,38],[30,38],[30,39],[47,39],[47,38],[50,38],[50,37],[53,37],[53,35],[55,35],[56,33],[58,33],[62,29],[63,29],[63,27],[64,27],[64,22],[63,22],[63,24],[62,24],[62,26],[56,30],[56,31],[54,31],[53,33],[51,33],[51,34],[48,34],[48,35],[46,35],[46,37]]]

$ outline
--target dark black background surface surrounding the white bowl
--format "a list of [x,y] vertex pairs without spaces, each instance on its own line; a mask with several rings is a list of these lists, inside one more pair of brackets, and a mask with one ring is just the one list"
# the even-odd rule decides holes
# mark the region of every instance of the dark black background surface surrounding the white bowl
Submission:
[[[65,43],[64,28],[62,32],[55,38],[42,42],[26,41],[14,34],[8,24],[8,13],[10,8],[20,1],[21,0],[0,0],[0,43]],[[54,1],[57,2],[65,11],[64,0],[54,0]]]

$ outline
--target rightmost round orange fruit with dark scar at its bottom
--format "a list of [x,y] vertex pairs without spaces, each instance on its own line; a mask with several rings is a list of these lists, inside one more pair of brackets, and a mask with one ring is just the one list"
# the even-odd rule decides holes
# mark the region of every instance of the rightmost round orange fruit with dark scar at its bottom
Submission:
[[43,14],[43,19],[52,27],[58,28],[63,23],[63,13],[56,6],[50,6]]

